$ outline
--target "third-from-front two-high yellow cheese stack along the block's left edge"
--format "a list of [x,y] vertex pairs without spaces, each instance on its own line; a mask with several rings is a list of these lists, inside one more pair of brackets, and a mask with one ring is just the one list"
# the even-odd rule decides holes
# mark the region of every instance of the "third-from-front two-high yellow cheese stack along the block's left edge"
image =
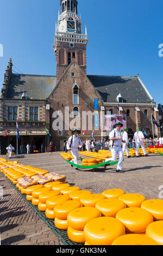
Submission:
[[[60,191],[59,191],[60,192]],[[45,215],[47,218],[54,220],[55,215],[54,215],[54,207],[55,205],[65,202],[67,200],[70,200],[70,197],[67,195],[59,195],[59,196],[53,196],[49,197],[46,200],[46,211]]]

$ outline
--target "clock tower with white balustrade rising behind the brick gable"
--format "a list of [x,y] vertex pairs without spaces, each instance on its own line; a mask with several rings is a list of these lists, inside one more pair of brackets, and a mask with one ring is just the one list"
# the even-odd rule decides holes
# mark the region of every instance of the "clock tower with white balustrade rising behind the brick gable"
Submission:
[[57,59],[57,81],[75,60],[86,74],[87,32],[82,34],[77,0],[60,0],[61,14],[55,24],[54,54]]

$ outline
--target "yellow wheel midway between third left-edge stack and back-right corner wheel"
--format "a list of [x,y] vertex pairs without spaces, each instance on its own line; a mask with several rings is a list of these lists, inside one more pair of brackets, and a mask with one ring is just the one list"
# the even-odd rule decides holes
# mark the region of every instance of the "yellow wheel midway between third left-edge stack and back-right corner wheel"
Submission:
[[80,202],[84,206],[95,207],[96,203],[103,199],[105,199],[103,194],[87,194],[87,195],[80,197]]

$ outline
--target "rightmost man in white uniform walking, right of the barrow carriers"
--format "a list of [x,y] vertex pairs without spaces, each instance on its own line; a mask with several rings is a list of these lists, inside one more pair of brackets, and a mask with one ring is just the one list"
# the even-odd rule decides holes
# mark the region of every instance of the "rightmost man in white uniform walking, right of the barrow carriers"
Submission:
[[139,157],[139,148],[141,147],[144,153],[144,156],[148,156],[145,149],[145,136],[143,135],[141,128],[137,129],[137,132],[134,134],[135,145],[136,145],[136,157]]

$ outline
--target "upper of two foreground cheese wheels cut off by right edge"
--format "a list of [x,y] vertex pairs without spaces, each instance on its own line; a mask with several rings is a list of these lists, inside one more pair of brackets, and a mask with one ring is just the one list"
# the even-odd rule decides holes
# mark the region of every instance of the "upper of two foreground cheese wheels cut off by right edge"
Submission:
[[141,208],[145,209],[154,217],[156,221],[163,221],[163,200],[162,199],[150,199],[141,204]]

